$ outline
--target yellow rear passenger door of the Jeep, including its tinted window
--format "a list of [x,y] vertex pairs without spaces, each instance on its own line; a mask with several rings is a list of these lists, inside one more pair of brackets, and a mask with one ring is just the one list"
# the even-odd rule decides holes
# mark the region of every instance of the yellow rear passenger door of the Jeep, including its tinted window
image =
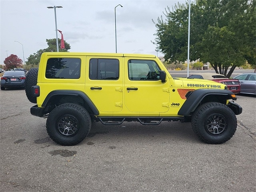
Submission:
[[122,110],[123,57],[86,56],[85,92],[100,114]]

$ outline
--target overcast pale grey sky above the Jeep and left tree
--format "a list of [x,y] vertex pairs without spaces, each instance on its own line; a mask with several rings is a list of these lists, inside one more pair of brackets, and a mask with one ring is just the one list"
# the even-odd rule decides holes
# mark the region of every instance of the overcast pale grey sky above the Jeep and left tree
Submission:
[[27,61],[48,47],[46,39],[56,38],[54,9],[48,6],[63,7],[56,8],[57,27],[70,52],[116,52],[114,8],[121,4],[116,7],[117,52],[156,55],[152,19],[178,2],[186,0],[0,0],[0,64],[10,54],[23,60],[21,44]]

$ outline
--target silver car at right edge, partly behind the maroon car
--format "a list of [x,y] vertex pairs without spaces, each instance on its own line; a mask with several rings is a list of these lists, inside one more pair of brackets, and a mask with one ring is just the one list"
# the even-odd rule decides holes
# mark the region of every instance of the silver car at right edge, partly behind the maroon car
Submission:
[[246,94],[256,95],[256,73],[244,73],[235,76],[233,79],[238,79],[241,84],[241,92]]

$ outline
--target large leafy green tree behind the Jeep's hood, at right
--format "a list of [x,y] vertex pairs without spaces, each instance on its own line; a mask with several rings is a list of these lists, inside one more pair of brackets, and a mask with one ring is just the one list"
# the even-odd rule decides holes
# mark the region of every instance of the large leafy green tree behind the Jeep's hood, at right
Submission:
[[[191,4],[190,59],[210,62],[230,77],[246,60],[256,64],[255,0],[196,0]],[[165,10],[155,23],[155,39],[165,60],[187,59],[188,3]],[[228,72],[228,68],[231,69]],[[228,72],[228,74],[227,74]]]

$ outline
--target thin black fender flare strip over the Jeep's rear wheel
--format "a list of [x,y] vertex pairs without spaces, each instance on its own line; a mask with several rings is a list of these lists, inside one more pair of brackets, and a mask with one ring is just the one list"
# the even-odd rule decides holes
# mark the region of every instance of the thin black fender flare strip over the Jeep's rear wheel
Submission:
[[86,104],[88,104],[88,106],[90,107],[90,109],[92,110],[94,115],[99,115],[100,112],[98,111],[98,109],[96,108],[96,106],[94,105],[94,103],[92,102],[92,100],[82,91],[78,91],[78,90],[54,90],[52,92],[50,92],[43,104],[42,107],[46,107],[47,103],[49,102],[49,100],[56,95],[73,95],[73,96],[80,96],[82,97],[82,99],[86,102]]

